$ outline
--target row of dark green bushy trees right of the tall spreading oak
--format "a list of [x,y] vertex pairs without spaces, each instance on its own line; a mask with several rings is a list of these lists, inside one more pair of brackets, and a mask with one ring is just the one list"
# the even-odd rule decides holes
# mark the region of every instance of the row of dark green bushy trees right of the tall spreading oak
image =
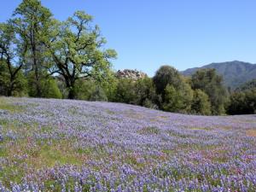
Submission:
[[184,77],[162,66],[153,78],[119,79],[113,102],[125,102],[174,113],[202,115],[256,113],[255,79],[236,90],[224,86],[215,69],[201,69]]

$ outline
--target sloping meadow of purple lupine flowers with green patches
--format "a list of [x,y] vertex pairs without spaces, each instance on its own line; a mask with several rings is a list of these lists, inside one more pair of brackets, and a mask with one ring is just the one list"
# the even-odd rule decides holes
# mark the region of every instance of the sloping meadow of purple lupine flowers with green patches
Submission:
[[256,115],[0,97],[0,191],[256,191]]

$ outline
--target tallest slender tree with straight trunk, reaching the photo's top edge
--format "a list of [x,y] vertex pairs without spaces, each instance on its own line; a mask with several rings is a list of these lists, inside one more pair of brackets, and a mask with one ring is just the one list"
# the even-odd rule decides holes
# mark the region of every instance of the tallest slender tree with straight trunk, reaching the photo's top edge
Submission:
[[44,64],[47,62],[44,40],[48,39],[49,26],[51,26],[52,14],[44,8],[39,0],[23,0],[15,9],[12,23],[19,38],[27,44],[27,54],[23,55],[26,61],[26,70],[33,72],[36,87],[35,96],[41,97],[41,79],[44,74]]

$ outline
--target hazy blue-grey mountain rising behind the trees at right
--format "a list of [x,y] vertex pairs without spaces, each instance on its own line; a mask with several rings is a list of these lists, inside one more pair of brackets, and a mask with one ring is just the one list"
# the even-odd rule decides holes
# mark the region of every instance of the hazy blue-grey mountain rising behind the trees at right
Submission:
[[256,79],[256,64],[242,61],[211,63],[203,67],[189,68],[181,73],[191,76],[202,68],[215,68],[217,73],[224,77],[224,84],[231,89],[236,89],[241,84]]

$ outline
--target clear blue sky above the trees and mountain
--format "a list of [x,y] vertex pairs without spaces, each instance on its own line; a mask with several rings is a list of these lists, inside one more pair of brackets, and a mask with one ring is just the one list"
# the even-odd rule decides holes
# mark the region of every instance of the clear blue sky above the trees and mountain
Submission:
[[[0,21],[20,0],[4,1]],[[42,0],[59,20],[75,10],[93,15],[116,49],[113,68],[150,76],[163,64],[178,70],[219,61],[256,63],[255,0]]]

